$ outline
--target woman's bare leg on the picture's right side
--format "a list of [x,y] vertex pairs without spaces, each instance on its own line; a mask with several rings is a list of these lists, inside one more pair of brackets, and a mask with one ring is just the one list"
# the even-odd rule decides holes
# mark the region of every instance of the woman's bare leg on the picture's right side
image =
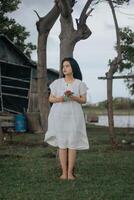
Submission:
[[75,179],[73,176],[73,170],[76,160],[76,150],[68,149],[68,179]]

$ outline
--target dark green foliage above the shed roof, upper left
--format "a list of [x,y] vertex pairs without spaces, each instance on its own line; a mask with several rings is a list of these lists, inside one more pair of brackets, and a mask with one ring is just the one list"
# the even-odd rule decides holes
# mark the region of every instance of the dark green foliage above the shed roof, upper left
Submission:
[[32,50],[36,49],[36,46],[31,42],[25,42],[30,33],[26,31],[24,26],[16,23],[15,19],[9,19],[7,16],[8,13],[18,9],[20,3],[20,0],[0,0],[0,33],[6,35],[22,52],[30,57]]

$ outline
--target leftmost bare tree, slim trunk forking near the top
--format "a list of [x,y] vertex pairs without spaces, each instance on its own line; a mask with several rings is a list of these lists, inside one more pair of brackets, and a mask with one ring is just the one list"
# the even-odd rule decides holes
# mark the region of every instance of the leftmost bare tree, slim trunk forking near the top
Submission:
[[[36,11],[35,11],[36,12]],[[48,126],[48,87],[47,87],[47,39],[51,28],[56,22],[60,12],[58,7],[58,0],[55,1],[54,7],[44,17],[39,17],[39,21],[36,23],[38,30],[38,64],[37,64],[37,87],[38,87],[38,105],[40,112],[41,126],[44,132]]]

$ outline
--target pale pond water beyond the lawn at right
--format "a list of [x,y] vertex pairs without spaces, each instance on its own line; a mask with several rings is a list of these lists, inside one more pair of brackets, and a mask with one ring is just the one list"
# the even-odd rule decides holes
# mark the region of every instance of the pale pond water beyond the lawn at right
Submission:
[[[98,123],[92,123],[100,126],[108,126],[108,116],[100,115]],[[114,116],[115,127],[134,127],[134,115],[115,115]]]

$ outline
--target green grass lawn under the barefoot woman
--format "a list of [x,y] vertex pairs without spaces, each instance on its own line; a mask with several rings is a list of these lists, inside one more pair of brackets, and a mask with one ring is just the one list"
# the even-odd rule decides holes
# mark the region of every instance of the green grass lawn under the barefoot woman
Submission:
[[[115,129],[119,143],[134,130]],[[134,200],[134,147],[112,150],[108,129],[87,125],[90,150],[77,151],[76,180],[59,180],[56,148],[44,135],[17,134],[0,146],[0,200]]]

